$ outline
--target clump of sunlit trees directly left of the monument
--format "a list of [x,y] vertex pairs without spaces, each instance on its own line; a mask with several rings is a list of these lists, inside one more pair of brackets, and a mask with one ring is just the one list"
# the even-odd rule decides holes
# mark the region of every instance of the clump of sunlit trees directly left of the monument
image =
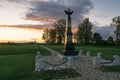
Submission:
[[53,23],[54,29],[45,29],[42,39],[47,43],[61,44],[65,40],[66,21],[64,19]]

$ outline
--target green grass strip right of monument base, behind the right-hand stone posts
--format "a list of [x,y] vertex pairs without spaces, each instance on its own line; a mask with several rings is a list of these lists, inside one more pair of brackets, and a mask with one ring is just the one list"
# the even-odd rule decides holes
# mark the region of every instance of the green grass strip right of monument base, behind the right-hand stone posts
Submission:
[[115,46],[77,46],[76,50],[83,50],[84,54],[90,51],[92,56],[96,56],[98,52],[101,52],[105,59],[113,59],[113,55],[120,56],[120,49]]

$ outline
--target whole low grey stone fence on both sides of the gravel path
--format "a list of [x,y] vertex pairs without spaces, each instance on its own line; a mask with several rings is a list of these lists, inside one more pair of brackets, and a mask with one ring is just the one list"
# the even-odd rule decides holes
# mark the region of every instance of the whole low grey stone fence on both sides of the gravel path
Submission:
[[[60,70],[75,68],[74,61],[82,61],[84,55],[82,55],[82,50],[79,51],[77,56],[63,56],[52,52],[52,56],[42,56],[40,51],[37,52],[35,56],[35,71],[40,70]],[[47,61],[45,57],[51,58],[51,62]],[[118,55],[113,56],[112,60],[103,59],[101,53],[97,53],[97,56],[92,57],[90,52],[87,52],[88,58],[92,59],[94,66],[120,66],[120,57]],[[54,58],[54,59],[53,59]],[[56,60],[56,63],[53,62]]]

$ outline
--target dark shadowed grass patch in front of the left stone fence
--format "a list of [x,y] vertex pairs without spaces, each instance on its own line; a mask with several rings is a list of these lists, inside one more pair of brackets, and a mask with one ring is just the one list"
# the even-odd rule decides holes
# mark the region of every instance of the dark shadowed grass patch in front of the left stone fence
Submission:
[[66,79],[66,78],[75,78],[81,76],[74,69],[47,70],[47,71],[40,71],[37,73],[41,76],[42,80]]

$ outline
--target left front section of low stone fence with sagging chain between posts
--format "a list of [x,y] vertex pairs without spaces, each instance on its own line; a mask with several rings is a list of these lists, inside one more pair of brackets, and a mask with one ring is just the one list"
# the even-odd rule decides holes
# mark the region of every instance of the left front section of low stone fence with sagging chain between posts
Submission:
[[[52,55],[56,56],[56,55]],[[51,59],[53,59],[52,56]],[[72,57],[68,57],[64,61],[57,62],[56,64],[53,64],[52,62],[48,62],[45,59],[46,56],[42,56],[40,52],[37,52],[37,55],[35,56],[35,71],[41,71],[41,70],[60,70],[60,69],[70,69],[74,68],[74,62]]]

